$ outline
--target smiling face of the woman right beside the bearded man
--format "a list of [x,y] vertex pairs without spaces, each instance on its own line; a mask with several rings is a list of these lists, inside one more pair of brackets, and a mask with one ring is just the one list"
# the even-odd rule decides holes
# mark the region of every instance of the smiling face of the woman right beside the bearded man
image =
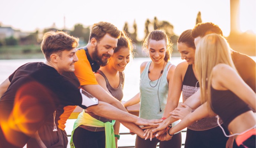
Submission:
[[130,61],[130,50],[128,47],[120,48],[109,58],[109,65],[111,65],[117,71],[124,71],[125,66]]

